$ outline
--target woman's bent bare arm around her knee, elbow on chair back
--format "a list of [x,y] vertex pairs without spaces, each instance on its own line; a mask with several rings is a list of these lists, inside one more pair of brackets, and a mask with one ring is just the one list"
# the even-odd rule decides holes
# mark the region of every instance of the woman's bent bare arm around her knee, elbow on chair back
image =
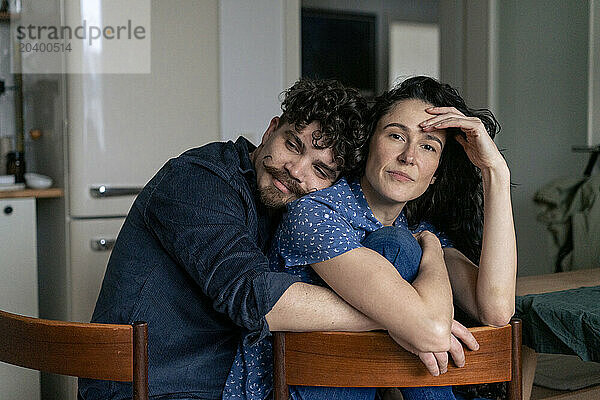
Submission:
[[345,301],[419,352],[450,349],[452,293],[442,250],[435,235],[420,237],[423,257],[413,284],[377,252],[360,247],[314,270]]

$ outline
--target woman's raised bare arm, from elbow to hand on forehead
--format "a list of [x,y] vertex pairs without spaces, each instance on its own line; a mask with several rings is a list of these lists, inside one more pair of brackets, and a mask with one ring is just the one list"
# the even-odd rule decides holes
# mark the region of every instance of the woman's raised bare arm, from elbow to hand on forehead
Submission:
[[505,325],[514,313],[517,250],[510,171],[481,120],[465,117],[451,107],[428,110],[436,117],[425,121],[428,129],[460,128],[457,135],[483,179],[484,222],[479,269],[457,250],[445,251],[448,273],[456,301],[465,311],[489,325]]

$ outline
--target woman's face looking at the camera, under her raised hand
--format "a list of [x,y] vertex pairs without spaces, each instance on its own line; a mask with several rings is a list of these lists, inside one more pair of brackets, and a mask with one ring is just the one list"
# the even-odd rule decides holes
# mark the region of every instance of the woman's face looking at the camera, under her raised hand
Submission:
[[425,112],[429,107],[421,100],[401,100],[377,123],[362,180],[377,203],[403,207],[434,182],[446,132],[421,129],[419,124],[433,117]]

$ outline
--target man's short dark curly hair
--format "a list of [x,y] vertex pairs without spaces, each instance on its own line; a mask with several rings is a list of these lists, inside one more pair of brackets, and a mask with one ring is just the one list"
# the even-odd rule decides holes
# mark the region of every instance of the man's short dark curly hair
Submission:
[[321,129],[313,133],[312,144],[331,147],[342,174],[355,171],[368,140],[364,129],[368,104],[358,91],[335,80],[303,78],[282,96],[280,124],[287,122],[300,131],[318,121]]

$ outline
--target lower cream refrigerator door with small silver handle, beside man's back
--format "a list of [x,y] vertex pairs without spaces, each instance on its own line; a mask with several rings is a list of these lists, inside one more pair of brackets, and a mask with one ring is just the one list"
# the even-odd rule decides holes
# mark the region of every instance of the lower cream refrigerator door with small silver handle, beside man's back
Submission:
[[90,322],[111,243],[124,221],[123,218],[71,221],[71,321]]

